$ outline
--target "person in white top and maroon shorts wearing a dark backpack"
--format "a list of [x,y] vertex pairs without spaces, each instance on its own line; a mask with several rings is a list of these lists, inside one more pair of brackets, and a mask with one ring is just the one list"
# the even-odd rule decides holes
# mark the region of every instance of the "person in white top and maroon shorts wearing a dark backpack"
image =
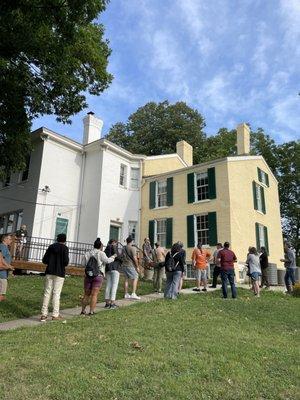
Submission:
[[90,305],[89,315],[95,314],[98,294],[105,276],[105,265],[115,260],[115,255],[107,257],[103,251],[103,244],[97,238],[94,249],[85,253],[83,266],[85,267],[84,296],[82,299],[81,315],[86,315],[86,306]]

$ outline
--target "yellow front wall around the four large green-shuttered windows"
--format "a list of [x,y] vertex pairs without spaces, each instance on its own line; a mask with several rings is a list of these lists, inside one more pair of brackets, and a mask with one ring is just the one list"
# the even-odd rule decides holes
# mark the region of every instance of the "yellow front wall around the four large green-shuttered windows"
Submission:
[[[188,203],[187,199],[187,174],[191,172],[206,172],[208,168],[215,167],[217,198]],[[173,177],[173,206],[162,208],[149,208],[149,186],[151,181],[165,180]],[[149,221],[155,219],[173,218],[172,242],[178,240],[184,243],[187,251],[187,261],[191,260],[193,248],[187,248],[187,216],[205,214],[215,211],[217,213],[218,241],[231,240],[230,234],[230,202],[228,190],[228,169],[226,160],[215,163],[195,165],[184,170],[170,174],[161,174],[147,178],[141,193],[141,243],[148,236]],[[213,252],[215,247],[211,248]]]

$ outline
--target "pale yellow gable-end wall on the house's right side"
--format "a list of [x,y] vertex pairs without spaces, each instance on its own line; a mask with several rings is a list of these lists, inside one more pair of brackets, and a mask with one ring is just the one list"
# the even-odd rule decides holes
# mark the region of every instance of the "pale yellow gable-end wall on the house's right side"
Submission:
[[[254,209],[252,182],[258,180],[259,167],[269,176],[264,187],[266,214]],[[249,246],[256,247],[255,223],[268,228],[269,262],[281,268],[283,257],[282,230],[277,181],[262,158],[234,160],[228,163],[230,193],[231,245],[239,261],[245,261]]]

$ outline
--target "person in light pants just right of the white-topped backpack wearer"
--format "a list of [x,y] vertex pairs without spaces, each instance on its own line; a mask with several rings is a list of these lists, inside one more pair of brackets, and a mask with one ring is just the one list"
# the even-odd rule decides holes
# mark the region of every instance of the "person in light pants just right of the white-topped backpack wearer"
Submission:
[[[106,256],[112,257],[117,255],[116,249],[117,242],[114,239],[110,239],[104,252]],[[116,257],[112,263],[106,264],[105,276],[106,276],[106,288],[105,288],[105,306],[106,309],[115,309],[118,306],[115,303],[117,289],[120,279],[121,261]]]

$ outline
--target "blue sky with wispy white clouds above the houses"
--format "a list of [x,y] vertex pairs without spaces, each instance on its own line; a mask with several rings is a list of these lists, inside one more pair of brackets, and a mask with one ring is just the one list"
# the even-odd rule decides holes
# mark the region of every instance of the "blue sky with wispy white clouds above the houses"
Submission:
[[34,120],[82,140],[88,111],[112,124],[149,101],[185,101],[205,132],[261,127],[276,142],[300,137],[300,0],[111,0],[99,16],[114,80],[64,125]]

